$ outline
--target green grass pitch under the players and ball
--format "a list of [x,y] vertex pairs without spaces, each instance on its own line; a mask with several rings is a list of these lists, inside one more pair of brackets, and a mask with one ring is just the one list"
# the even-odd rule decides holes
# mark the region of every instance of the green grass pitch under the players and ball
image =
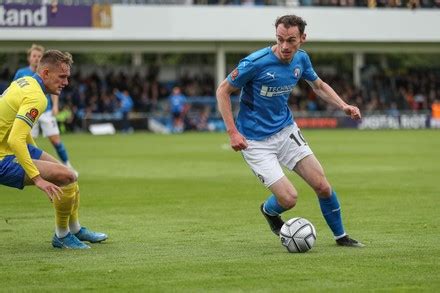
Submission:
[[226,134],[66,135],[81,223],[109,239],[53,249],[46,196],[0,186],[0,291],[439,292],[440,132],[303,132],[365,248],[337,247],[316,196],[289,174],[299,200],[284,218],[318,234],[289,254],[260,215],[269,192]]

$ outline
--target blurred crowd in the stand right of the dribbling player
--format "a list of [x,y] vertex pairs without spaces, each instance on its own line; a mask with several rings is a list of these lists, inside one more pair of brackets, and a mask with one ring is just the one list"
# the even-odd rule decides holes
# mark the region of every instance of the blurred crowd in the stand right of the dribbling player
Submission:
[[[429,111],[440,99],[440,70],[408,70],[386,72],[365,68],[361,87],[355,87],[349,75],[319,74],[345,101],[358,106],[364,113],[385,111]],[[335,111],[319,99],[306,83],[300,83],[291,96],[294,111]]]

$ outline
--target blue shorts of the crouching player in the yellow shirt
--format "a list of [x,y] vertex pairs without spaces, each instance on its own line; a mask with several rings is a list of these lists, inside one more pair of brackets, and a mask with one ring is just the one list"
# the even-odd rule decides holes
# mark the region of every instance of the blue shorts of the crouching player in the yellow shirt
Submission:
[[[32,159],[40,159],[43,151],[28,144],[28,150]],[[17,162],[15,155],[9,155],[0,160],[0,184],[18,189],[24,188],[25,171]]]

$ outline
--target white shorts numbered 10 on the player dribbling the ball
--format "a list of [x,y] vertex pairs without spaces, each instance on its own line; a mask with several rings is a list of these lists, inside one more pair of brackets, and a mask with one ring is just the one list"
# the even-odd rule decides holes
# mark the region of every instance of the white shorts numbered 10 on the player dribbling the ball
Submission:
[[281,165],[293,171],[299,161],[313,154],[296,124],[262,141],[248,140],[247,149],[241,153],[266,187],[284,176]]

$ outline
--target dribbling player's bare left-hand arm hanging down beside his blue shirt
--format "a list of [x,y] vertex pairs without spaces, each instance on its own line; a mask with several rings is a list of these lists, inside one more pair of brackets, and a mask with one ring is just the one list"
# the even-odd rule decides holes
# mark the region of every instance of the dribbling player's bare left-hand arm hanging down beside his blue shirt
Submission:
[[248,144],[246,139],[238,132],[235,126],[234,116],[232,114],[231,105],[231,94],[238,90],[229,84],[228,80],[225,79],[217,88],[217,103],[218,110],[223,117],[223,121],[226,125],[226,131],[228,132],[229,138],[231,140],[231,147],[235,151],[246,149]]

